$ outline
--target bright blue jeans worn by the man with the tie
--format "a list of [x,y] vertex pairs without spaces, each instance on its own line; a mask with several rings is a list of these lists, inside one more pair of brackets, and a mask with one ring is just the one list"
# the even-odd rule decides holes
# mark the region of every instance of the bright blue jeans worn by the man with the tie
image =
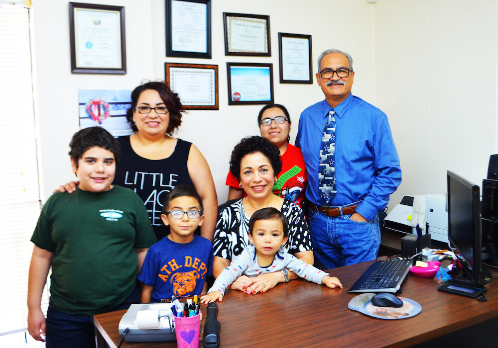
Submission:
[[309,209],[315,267],[330,269],[377,258],[380,246],[378,217],[353,221],[351,215],[328,217]]

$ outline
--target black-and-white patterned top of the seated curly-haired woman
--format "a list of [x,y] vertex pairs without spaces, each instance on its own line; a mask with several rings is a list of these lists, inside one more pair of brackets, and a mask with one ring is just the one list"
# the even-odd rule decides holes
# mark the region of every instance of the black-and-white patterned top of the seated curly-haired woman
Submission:
[[[294,254],[312,250],[308,224],[301,208],[284,199],[280,211],[289,220],[289,239],[284,245],[286,251]],[[248,245],[249,218],[244,212],[242,199],[240,199],[220,213],[213,240],[213,254],[233,261]]]

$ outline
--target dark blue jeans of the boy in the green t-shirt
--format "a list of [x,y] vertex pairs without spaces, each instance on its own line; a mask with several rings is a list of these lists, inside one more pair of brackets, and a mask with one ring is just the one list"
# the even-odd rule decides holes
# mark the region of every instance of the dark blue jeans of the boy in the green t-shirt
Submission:
[[[130,304],[139,302],[140,291],[136,286],[131,295],[110,312],[127,309]],[[46,324],[47,348],[95,348],[95,327],[91,315],[65,313],[49,304]]]

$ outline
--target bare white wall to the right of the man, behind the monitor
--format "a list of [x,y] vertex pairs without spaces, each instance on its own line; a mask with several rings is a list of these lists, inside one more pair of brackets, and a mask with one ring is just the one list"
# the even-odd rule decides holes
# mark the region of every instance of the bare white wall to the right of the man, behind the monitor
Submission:
[[495,151],[498,1],[379,0],[375,105],[388,117],[405,194],[446,192],[446,171],[481,185]]

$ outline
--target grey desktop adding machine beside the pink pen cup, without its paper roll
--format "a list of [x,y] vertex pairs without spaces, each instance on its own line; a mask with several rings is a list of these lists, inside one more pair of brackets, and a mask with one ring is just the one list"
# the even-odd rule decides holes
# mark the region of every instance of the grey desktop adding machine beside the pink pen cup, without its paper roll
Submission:
[[[161,318],[161,327],[158,329],[138,329],[135,327],[136,313],[149,309],[159,310],[160,315],[167,315]],[[176,341],[175,325],[172,318],[171,303],[139,303],[129,306],[128,311],[124,313],[118,327],[120,335],[123,336],[124,330],[129,328],[124,341],[126,342],[164,342]]]

